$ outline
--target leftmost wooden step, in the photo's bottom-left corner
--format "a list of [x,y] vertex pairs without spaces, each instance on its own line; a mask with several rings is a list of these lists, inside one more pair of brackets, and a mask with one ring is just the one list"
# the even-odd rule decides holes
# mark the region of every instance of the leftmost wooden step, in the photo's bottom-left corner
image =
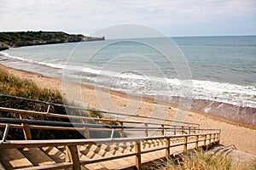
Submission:
[[0,161],[6,169],[33,167],[32,162],[17,149],[0,150]]

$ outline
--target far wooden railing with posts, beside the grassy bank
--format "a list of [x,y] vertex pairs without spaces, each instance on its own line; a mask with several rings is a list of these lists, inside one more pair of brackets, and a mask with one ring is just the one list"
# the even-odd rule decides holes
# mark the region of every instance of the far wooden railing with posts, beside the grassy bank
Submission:
[[[48,117],[55,117],[55,118],[66,118],[71,120],[81,120],[82,122],[88,122],[88,121],[97,121],[104,124],[104,122],[114,122],[119,124],[119,126],[125,126],[125,124],[129,124],[130,126],[138,126],[138,127],[145,127],[143,129],[136,129],[136,131],[144,131],[145,136],[148,136],[149,132],[159,132],[162,135],[164,134],[164,130],[157,128],[157,129],[150,129],[152,126],[157,127],[172,127],[172,129],[169,129],[169,131],[172,130],[173,134],[189,134],[189,133],[195,133],[195,131],[198,129],[197,124],[191,124],[191,126],[185,125],[175,125],[172,126],[166,122],[163,123],[157,123],[157,122],[137,122],[137,121],[125,121],[125,120],[116,120],[116,119],[108,119],[108,118],[96,118],[96,117],[86,117],[86,116],[70,116],[70,115],[61,115],[61,114],[54,114],[49,112],[40,112],[40,111],[26,111],[26,110],[18,110],[18,109],[12,109],[12,108],[6,108],[6,107],[0,107],[0,111],[6,112],[6,113],[13,113],[20,117],[20,119],[28,119],[28,116],[48,116]],[[153,119],[153,118],[152,118]],[[84,123],[86,124],[86,123]],[[194,126],[193,126],[194,125]],[[0,123],[0,127],[4,127],[5,124]],[[24,131],[25,139],[32,139],[31,135],[31,128],[36,129],[54,129],[54,130],[70,130],[70,131],[84,131],[85,138],[90,138],[90,131],[110,131],[111,129],[108,128],[87,128],[87,127],[49,127],[49,126],[37,126],[37,125],[27,125],[26,123],[23,123],[22,125],[13,125],[11,124],[10,127],[16,127],[16,128],[22,128]],[[132,131],[134,129],[129,129],[128,131]],[[125,137],[125,129],[120,128],[117,129],[119,131],[121,137]],[[127,131],[127,129],[126,129]]]

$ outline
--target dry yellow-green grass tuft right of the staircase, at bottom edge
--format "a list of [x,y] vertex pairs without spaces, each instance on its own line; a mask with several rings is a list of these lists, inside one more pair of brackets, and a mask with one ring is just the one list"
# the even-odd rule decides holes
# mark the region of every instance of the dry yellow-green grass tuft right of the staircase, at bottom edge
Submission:
[[[230,157],[218,155],[214,156],[206,151],[194,150],[175,160],[168,160],[163,165],[158,166],[162,170],[243,170],[245,165],[240,165],[231,160]],[[253,164],[256,169],[256,164]]]

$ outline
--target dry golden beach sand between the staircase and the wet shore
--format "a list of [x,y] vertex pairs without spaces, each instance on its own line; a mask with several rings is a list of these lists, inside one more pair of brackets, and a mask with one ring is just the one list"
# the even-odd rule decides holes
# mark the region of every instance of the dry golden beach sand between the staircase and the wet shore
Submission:
[[[60,90],[67,98],[72,95],[71,97],[81,100],[85,107],[140,116],[158,116],[168,119],[184,115],[185,122],[198,123],[201,128],[221,129],[220,144],[232,146],[237,150],[256,156],[255,128],[241,127],[238,124],[236,125],[236,123],[229,123],[223,121],[223,119],[218,119],[218,117],[207,116],[207,114],[199,111],[187,111],[184,108],[178,108],[177,105],[156,103],[154,99],[140,99],[106,89],[81,86],[74,83],[68,83],[68,88],[62,89],[60,79],[44,77],[33,72],[15,70],[4,65],[0,65],[0,69],[8,71],[15,77],[35,82],[41,88]],[[73,93],[73,89],[79,90]]]

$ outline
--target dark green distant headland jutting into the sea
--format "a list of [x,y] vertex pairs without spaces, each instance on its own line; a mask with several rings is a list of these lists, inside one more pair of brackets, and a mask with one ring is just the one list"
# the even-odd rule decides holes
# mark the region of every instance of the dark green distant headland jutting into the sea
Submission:
[[104,40],[105,37],[86,37],[82,34],[67,34],[63,31],[8,31],[0,32],[0,51],[9,47]]

